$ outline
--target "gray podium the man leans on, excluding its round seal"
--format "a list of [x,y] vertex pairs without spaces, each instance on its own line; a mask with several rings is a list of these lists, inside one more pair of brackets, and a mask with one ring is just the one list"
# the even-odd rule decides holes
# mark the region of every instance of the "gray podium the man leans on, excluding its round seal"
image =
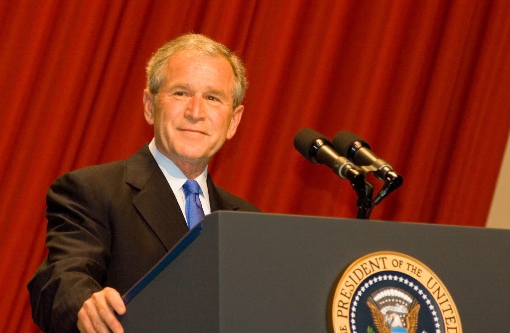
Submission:
[[510,230],[215,212],[124,295],[126,332],[326,332],[342,271],[374,251],[440,277],[464,332],[510,328]]

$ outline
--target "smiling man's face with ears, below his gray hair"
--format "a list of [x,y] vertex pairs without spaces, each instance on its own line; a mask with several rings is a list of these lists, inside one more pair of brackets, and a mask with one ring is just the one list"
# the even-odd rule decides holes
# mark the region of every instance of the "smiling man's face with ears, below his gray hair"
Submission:
[[176,164],[207,164],[234,136],[244,109],[232,109],[232,67],[221,57],[182,51],[168,60],[165,77],[154,98],[147,89],[143,96],[156,146]]

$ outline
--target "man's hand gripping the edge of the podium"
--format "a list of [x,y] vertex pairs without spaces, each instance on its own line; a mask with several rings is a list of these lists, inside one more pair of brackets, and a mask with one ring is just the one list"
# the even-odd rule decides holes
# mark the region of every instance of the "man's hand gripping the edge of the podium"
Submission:
[[113,288],[105,289],[92,294],[78,312],[78,329],[84,333],[114,332],[123,333],[122,325],[115,317],[114,311],[119,315],[126,312],[120,294]]

